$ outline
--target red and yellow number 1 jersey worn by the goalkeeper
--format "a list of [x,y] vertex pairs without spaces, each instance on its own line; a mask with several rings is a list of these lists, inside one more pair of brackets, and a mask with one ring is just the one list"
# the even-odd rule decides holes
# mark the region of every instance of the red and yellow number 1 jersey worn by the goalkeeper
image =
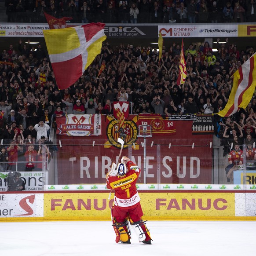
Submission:
[[140,168],[132,161],[128,161],[126,168],[127,173],[124,176],[108,176],[106,187],[115,190],[115,205],[121,208],[132,208],[140,201],[136,188]]

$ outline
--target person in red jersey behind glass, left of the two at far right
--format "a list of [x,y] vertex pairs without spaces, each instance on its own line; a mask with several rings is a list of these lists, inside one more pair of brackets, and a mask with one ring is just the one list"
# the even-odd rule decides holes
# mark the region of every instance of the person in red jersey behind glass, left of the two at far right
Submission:
[[234,144],[234,150],[231,150],[228,155],[229,165],[225,168],[227,174],[227,181],[233,180],[233,172],[242,169],[243,151],[239,148],[239,144]]

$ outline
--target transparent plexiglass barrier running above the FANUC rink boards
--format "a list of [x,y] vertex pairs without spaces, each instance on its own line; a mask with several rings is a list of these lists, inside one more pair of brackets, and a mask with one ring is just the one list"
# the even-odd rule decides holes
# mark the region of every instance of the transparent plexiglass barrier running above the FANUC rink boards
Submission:
[[[189,184],[195,188],[248,184],[254,187],[254,146],[224,145],[215,135],[211,139],[142,136],[133,143],[125,143],[121,155],[128,156],[141,169],[140,184]],[[38,148],[35,145],[36,153]],[[8,180],[5,178],[15,171],[21,174],[25,190],[49,190],[56,185],[65,189],[69,185],[105,184],[106,174],[112,162],[117,162],[120,150],[121,145],[115,139],[111,142],[99,137],[79,141],[56,139],[47,150],[44,146],[40,154],[29,156],[28,150],[24,150],[18,152],[17,163],[1,162],[0,189],[7,191]],[[33,168],[28,168],[29,163]]]

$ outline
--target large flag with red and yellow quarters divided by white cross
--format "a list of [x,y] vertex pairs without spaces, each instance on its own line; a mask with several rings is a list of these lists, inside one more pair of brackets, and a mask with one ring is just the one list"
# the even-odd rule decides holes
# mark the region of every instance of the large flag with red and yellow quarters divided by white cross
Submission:
[[104,27],[105,24],[98,22],[72,28],[43,30],[59,89],[74,84],[100,54],[102,42],[106,40]]

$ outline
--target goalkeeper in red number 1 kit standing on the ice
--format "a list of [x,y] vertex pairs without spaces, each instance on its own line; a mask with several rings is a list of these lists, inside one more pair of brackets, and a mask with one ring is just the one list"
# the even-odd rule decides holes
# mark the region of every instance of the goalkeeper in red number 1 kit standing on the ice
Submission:
[[136,189],[136,181],[140,174],[140,168],[128,157],[122,157],[121,163],[112,164],[110,172],[106,176],[106,186],[115,190],[114,206],[111,208],[113,228],[117,235],[116,242],[130,244],[130,224],[135,227],[139,241],[151,245],[150,232],[143,221],[143,211],[140,198]]

